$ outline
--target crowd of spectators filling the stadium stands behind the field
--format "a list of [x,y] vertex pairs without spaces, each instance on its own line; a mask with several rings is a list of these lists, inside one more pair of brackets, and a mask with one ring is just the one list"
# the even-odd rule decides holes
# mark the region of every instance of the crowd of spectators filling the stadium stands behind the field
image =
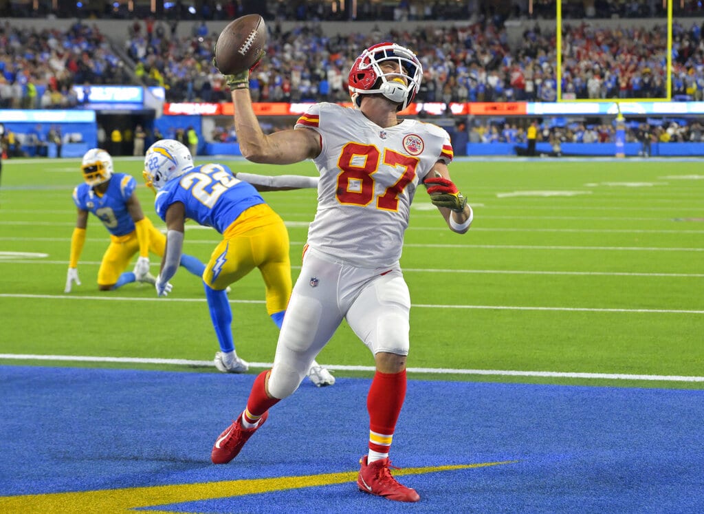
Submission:
[[[537,12],[540,5],[536,4]],[[627,8],[624,3],[615,5]],[[314,7],[313,3],[307,6]],[[444,15],[415,13],[401,4],[401,14],[394,16]],[[168,102],[228,101],[222,75],[210,63],[217,33],[208,29],[205,20],[197,20],[189,35],[179,37],[178,23],[134,20],[121,43],[108,41],[95,25],[80,20],[65,31],[14,27],[6,20],[0,25],[0,109],[75,107],[79,101],[74,85],[139,82],[163,86]],[[555,31],[541,31],[537,24],[513,46],[503,20],[497,17],[414,30],[377,24],[365,34],[332,37],[323,34],[319,23],[300,23],[293,30],[283,30],[277,22],[268,27],[268,57],[250,80],[255,102],[348,102],[347,73],[356,49],[383,40],[403,42],[417,52],[425,71],[417,95],[420,102],[554,102],[557,97]],[[674,23],[675,99],[704,99],[702,30],[697,23]],[[653,30],[610,29],[585,20],[565,27],[562,40],[563,99],[665,97],[665,25]],[[661,128],[660,133],[653,130],[651,137],[700,140],[700,130],[692,126]],[[476,132],[469,130],[470,140],[520,142],[521,138],[512,130],[506,136],[501,126]],[[608,132],[596,127],[551,130],[551,137],[585,140],[584,134],[590,140],[596,134],[596,140],[604,140]],[[631,137],[636,132],[633,128]],[[229,128],[220,128],[215,136],[222,141],[234,137]]]

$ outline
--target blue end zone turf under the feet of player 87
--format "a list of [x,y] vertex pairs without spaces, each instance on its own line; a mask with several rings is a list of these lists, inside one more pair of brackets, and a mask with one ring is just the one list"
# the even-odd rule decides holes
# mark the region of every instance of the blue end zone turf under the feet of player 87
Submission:
[[[370,381],[307,381],[229,465],[210,448],[253,374],[0,367],[0,496],[270,478],[163,497],[172,512],[695,512],[704,498],[704,391],[410,381],[391,458],[404,469],[517,461],[399,479],[420,503],[357,491]],[[433,424],[436,424],[434,427]],[[302,489],[280,477],[311,475]],[[306,487],[308,484],[318,484]],[[241,484],[244,484],[242,482]],[[175,490],[179,491],[178,487]],[[217,498],[216,496],[225,496]],[[146,496],[145,496],[146,497]],[[48,498],[48,496],[42,496]],[[0,510],[6,505],[0,498]],[[80,510],[89,496],[71,500]],[[6,505],[7,507],[7,505]],[[125,509],[130,505],[125,505]]]

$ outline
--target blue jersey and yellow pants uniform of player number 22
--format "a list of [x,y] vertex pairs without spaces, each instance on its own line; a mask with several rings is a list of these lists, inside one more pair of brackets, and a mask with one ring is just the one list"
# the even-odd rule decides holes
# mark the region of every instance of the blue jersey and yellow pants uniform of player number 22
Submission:
[[[156,195],[154,206],[158,216],[165,221],[166,211],[175,202],[184,204],[187,219],[222,234],[222,241],[213,250],[203,272],[208,300],[212,300],[213,293],[225,290],[258,268],[265,283],[267,312],[280,326],[291,295],[289,234],[281,217],[253,185],[235,178],[222,164],[196,166],[169,180]],[[227,313],[221,314],[227,317]],[[216,321],[216,317],[213,317],[216,332],[218,325],[222,325],[222,331],[227,325],[230,334],[229,323],[224,319]],[[227,346],[222,349],[227,351]]]

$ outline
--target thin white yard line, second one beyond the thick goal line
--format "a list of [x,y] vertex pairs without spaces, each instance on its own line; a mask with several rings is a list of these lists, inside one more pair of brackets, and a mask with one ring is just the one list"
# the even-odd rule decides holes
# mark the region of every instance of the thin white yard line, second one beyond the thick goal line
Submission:
[[[0,264],[61,264],[68,266],[68,262],[45,261],[40,257],[36,259],[7,259],[0,252]],[[82,266],[99,266],[100,261],[81,261]],[[156,263],[155,263],[156,264]],[[291,266],[291,269],[301,269],[300,266]],[[523,269],[433,269],[433,268],[403,268],[403,273],[466,273],[487,275],[569,275],[569,276],[658,276],[668,279],[704,278],[704,273],[637,273],[630,271],[532,271]]]

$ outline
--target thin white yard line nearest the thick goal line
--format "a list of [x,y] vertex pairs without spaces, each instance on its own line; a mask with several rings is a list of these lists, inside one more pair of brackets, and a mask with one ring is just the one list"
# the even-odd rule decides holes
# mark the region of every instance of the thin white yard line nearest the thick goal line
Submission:
[[[39,300],[106,300],[120,302],[206,302],[205,298],[132,298],[125,296],[75,296],[75,295],[30,295],[2,293],[0,298],[37,298]],[[265,303],[265,300],[230,300],[230,303]],[[520,305],[432,305],[412,303],[420,309],[474,309],[474,310],[538,310],[562,312],[648,312],[650,314],[704,314],[704,310],[681,309],[607,309],[598,307],[524,307]]]

